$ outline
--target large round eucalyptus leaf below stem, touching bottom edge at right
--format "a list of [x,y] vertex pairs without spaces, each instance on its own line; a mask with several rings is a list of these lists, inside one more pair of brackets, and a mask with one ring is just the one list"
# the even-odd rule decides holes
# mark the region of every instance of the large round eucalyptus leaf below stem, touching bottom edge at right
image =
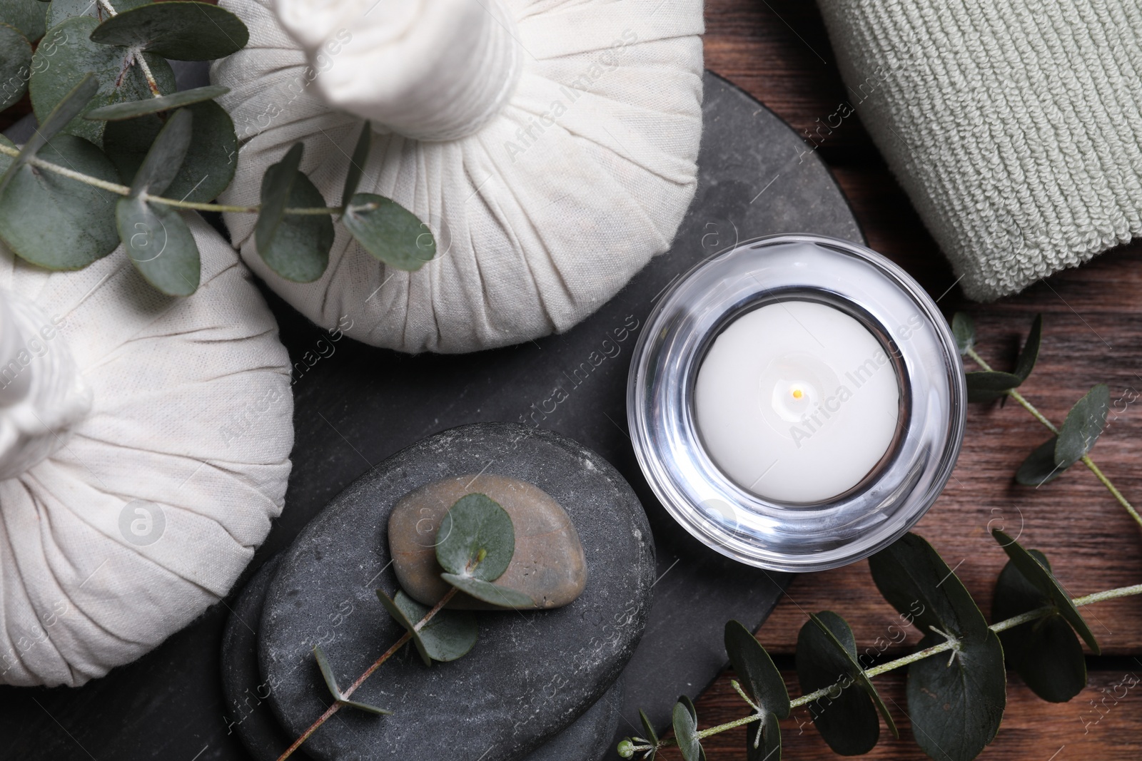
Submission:
[[[919,648],[943,642],[934,632]],[[1007,703],[1003,646],[995,632],[960,642],[949,663],[934,655],[908,666],[908,713],[920,748],[933,759],[971,761],[995,738]]]

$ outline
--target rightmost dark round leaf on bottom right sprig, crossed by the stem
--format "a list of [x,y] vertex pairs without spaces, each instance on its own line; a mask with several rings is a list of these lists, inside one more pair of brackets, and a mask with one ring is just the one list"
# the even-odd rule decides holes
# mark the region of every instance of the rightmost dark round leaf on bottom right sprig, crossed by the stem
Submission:
[[[1051,564],[1038,550],[1028,554],[1048,572]],[[1012,618],[1052,605],[1043,590],[1008,561],[996,581],[991,616]],[[1086,658],[1071,625],[1057,613],[999,632],[1004,657],[1027,686],[1044,701],[1065,703],[1086,687]]]

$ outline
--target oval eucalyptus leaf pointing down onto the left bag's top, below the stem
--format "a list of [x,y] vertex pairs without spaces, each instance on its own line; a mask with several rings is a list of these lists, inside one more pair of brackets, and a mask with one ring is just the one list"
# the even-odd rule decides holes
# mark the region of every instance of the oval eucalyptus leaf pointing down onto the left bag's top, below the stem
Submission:
[[178,210],[131,196],[115,204],[115,222],[131,264],[155,290],[190,296],[199,289],[199,246]]

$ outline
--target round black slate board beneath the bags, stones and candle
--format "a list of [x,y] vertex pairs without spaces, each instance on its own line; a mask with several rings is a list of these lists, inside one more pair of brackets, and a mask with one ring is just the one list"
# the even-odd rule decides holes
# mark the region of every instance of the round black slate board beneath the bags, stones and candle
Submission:
[[[788,576],[707,549],[654,500],[626,432],[635,339],[628,316],[641,326],[675,278],[738,241],[791,232],[860,243],[863,237],[833,177],[791,129],[725,80],[707,72],[705,81],[699,187],[674,246],[563,335],[473,355],[412,357],[347,339],[331,342],[328,332],[267,296],[296,363],[297,446],[288,507],[247,577],[345,486],[397,450],[453,426],[533,414],[536,423],[610,461],[642,500],[654,533],[654,602],[625,672],[617,737],[638,731],[638,707],[666,726],[678,694],[698,695],[717,675],[726,663],[724,622],[759,626]],[[580,363],[622,330],[630,334],[617,342],[619,354],[576,384],[570,375]],[[557,382],[569,398],[542,412],[552,408],[544,403]],[[227,614],[228,600],[153,653],[80,689],[0,688],[0,758],[247,759],[228,724],[218,678]]]

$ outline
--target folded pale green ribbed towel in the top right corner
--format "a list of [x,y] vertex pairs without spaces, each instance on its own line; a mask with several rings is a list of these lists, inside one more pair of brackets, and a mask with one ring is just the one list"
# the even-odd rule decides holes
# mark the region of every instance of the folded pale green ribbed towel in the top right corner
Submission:
[[1139,0],[818,0],[851,103],[978,300],[1142,234]]

